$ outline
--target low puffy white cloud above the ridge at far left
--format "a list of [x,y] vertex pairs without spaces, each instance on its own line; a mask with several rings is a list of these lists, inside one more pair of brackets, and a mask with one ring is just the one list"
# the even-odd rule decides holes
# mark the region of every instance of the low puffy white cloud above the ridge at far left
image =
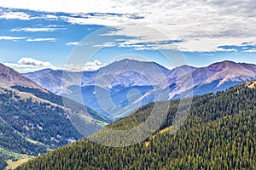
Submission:
[[42,69],[50,68],[50,69],[60,69],[52,65],[48,61],[41,61],[38,59],[32,59],[28,57],[24,57],[19,59],[17,63],[3,63],[3,65],[7,65],[15,69],[15,71],[19,71],[21,73],[30,72],[30,71],[39,71]]

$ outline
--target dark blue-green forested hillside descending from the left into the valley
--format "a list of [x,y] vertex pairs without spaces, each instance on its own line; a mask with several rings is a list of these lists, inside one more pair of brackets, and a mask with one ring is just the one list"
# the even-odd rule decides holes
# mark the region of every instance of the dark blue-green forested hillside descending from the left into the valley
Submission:
[[63,107],[61,96],[36,88],[0,87],[0,105],[0,169],[6,167],[8,160],[38,156],[82,139],[83,135],[69,119],[71,112],[78,116],[87,114],[81,120],[91,123],[94,130],[102,128],[108,121],[71,99],[66,99],[66,107]]

